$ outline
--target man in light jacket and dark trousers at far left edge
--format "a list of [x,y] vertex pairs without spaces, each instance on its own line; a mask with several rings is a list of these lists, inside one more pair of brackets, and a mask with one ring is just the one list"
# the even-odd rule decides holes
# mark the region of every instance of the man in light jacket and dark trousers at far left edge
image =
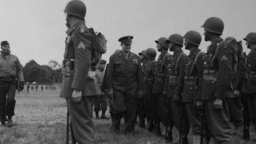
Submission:
[[5,126],[12,127],[12,116],[15,109],[15,90],[18,92],[24,88],[24,76],[22,67],[17,56],[10,54],[10,44],[7,41],[1,42],[0,56],[0,121]]

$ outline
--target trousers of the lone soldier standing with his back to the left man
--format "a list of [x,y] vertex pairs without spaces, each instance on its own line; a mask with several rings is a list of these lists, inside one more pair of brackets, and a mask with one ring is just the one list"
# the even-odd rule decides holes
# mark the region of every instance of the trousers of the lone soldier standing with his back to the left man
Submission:
[[90,144],[94,140],[93,100],[94,97],[83,97],[81,102],[73,102],[70,98],[66,99],[73,136],[79,144]]

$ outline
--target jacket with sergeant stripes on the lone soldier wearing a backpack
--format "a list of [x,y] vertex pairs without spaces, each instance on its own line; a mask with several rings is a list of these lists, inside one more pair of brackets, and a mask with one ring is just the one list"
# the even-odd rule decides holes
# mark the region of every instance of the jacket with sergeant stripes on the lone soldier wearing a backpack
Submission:
[[90,31],[84,21],[81,21],[68,29],[67,35],[60,97],[72,97],[74,89],[81,90],[83,97],[100,94],[95,72],[90,70],[92,61]]

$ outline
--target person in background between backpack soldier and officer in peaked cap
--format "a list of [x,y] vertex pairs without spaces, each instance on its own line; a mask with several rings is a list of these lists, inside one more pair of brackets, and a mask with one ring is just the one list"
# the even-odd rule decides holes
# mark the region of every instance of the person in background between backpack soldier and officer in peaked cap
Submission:
[[[102,90],[102,82],[103,82],[103,78],[105,75],[105,67],[106,67],[106,60],[100,60],[100,63],[98,65],[96,72],[96,77],[97,77],[97,81],[98,84],[100,86],[100,89]],[[96,119],[99,119],[99,111],[101,109],[102,111],[102,115],[101,115],[101,119],[109,119],[105,113],[107,110],[107,106],[108,106],[108,97],[106,95],[105,92],[102,92],[102,94],[97,95],[97,97],[95,97],[95,107],[94,107],[94,111],[95,111],[95,115],[96,115]]]

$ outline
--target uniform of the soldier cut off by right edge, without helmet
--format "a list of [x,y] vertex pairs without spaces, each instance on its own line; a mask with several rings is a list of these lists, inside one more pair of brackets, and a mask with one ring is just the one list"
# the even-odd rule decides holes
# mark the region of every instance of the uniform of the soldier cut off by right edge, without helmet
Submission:
[[246,87],[250,120],[256,129],[256,46],[246,60]]

